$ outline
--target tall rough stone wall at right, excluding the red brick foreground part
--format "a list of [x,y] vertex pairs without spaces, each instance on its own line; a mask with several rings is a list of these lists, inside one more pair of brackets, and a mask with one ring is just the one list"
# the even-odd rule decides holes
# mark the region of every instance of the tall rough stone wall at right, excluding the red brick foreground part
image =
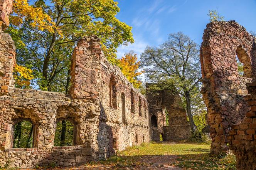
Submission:
[[[212,138],[211,153],[227,153],[227,135],[249,110],[246,83],[255,77],[255,39],[235,21],[211,22],[204,30],[200,49],[202,94]],[[244,64],[238,74],[236,55]]]

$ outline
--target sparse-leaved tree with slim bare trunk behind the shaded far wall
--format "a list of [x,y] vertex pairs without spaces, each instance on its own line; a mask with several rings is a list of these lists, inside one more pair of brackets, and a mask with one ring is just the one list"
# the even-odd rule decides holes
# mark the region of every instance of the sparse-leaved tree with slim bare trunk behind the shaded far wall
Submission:
[[190,127],[197,130],[191,112],[191,96],[198,93],[201,77],[198,45],[182,32],[170,34],[158,48],[148,46],[145,49],[141,54],[141,65],[148,81],[167,81],[165,89],[185,98]]

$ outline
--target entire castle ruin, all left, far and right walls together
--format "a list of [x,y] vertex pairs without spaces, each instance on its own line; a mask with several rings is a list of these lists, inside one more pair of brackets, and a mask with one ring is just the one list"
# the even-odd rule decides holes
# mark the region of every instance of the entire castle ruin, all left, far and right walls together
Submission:
[[[15,45],[3,33],[10,12],[12,1],[0,1],[1,166],[73,166],[160,140],[160,135],[163,140],[189,139],[180,96],[147,90],[146,99],[120,68],[109,64],[96,36],[79,40],[74,49],[69,94],[14,88]],[[243,63],[243,76],[236,58]],[[256,169],[256,38],[235,21],[211,22],[204,31],[200,61],[211,153],[231,149],[238,169]],[[31,124],[32,147],[14,146],[15,126],[22,121]],[[72,145],[55,146],[60,121],[71,122]]]

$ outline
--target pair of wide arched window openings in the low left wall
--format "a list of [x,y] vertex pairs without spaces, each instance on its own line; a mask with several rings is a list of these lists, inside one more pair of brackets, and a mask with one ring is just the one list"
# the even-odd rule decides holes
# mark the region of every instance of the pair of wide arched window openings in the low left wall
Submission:
[[[29,120],[22,120],[13,125],[12,148],[32,148],[37,147],[37,125]],[[77,141],[76,125],[69,120],[60,120],[56,124],[54,146],[73,146]]]

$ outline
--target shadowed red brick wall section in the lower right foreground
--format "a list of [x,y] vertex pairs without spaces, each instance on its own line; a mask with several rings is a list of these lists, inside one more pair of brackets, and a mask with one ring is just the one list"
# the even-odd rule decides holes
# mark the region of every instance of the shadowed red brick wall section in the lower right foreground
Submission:
[[256,169],[256,81],[249,83],[250,95],[245,100],[251,108],[246,118],[238,125],[232,125],[227,136],[230,148],[236,155],[237,169]]

